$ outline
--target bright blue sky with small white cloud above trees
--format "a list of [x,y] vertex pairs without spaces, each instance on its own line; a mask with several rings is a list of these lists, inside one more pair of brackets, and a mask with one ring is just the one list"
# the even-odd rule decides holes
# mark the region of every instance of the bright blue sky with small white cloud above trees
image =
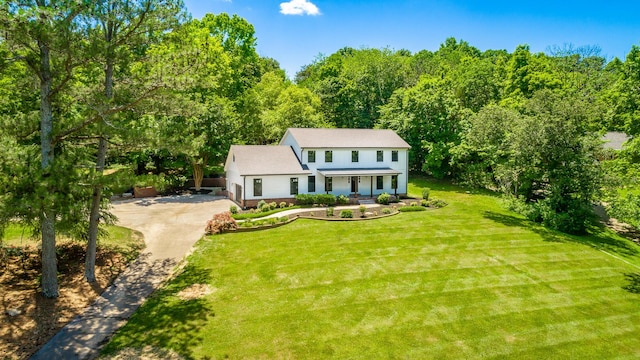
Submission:
[[318,54],[345,46],[435,51],[448,37],[480,50],[519,44],[597,45],[607,59],[640,45],[640,1],[185,0],[195,18],[237,14],[253,24],[258,53],[293,78]]

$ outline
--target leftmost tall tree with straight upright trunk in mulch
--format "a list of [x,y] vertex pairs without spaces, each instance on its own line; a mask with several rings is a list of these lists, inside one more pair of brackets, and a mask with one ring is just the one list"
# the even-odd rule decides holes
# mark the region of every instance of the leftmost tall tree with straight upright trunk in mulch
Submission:
[[[24,61],[38,78],[40,87],[40,164],[41,176],[34,179],[36,187],[55,189],[64,176],[56,163],[55,132],[60,125],[60,114],[54,104],[61,91],[73,77],[73,69],[85,60],[76,56],[84,45],[85,24],[82,14],[86,4],[76,1],[0,4],[0,25],[4,41],[14,59]],[[46,297],[58,296],[56,265],[55,223],[56,194],[41,192],[38,220],[42,236],[42,293]]]

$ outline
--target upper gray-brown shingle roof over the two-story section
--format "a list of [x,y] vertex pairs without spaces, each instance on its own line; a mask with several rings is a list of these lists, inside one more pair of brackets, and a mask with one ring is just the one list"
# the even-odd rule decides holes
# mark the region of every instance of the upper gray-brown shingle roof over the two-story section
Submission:
[[393,130],[290,128],[287,133],[292,135],[302,148],[408,149],[411,147]]

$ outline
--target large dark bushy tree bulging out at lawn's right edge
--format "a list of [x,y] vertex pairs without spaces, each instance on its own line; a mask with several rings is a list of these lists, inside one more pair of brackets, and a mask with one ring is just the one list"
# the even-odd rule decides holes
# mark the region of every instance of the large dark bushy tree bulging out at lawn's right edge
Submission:
[[520,197],[531,220],[584,232],[601,179],[598,137],[588,130],[597,110],[574,95],[550,90],[534,93],[522,114],[485,107],[471,117],[455,159],[459,166],[481,164],[467,174],[477,178],[473,172],[490,172],[478,183]]

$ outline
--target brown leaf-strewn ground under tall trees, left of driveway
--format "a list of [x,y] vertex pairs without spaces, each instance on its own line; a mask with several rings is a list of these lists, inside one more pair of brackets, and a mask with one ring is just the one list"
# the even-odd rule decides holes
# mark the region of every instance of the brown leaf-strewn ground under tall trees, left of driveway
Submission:
[[[25,359],[92,304],[144,247],[142,235],[124,228],[99,246],[96,283],[84,280],[85,245],[61,240],[57,245],[60,296],[40,294],[42,263],[35,241],[7,241],[0,249],[0,354]],[[16,243],[16,244],[14,244]]]

